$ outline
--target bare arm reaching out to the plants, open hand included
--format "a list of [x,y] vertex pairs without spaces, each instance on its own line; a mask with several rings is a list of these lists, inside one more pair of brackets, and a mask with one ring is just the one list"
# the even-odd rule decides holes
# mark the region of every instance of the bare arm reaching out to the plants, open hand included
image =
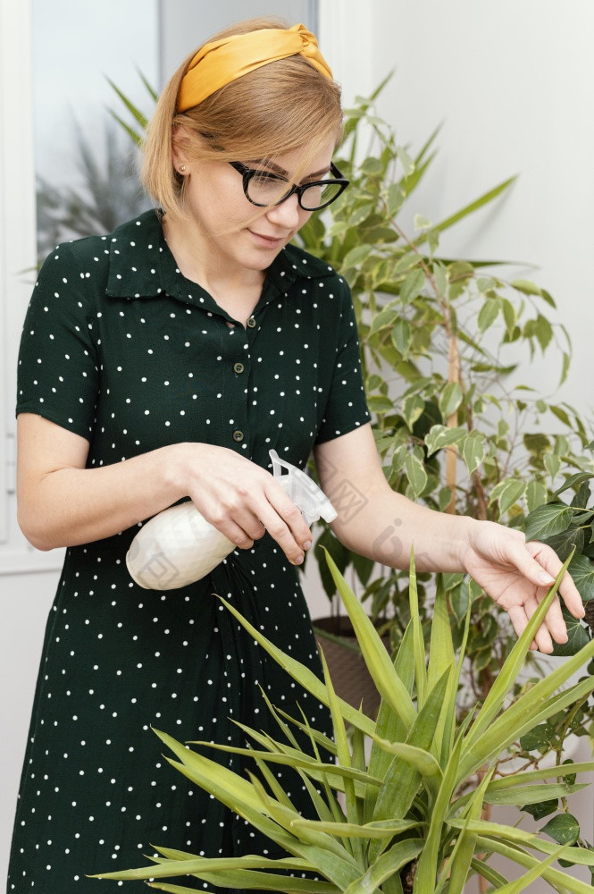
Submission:
[[[414,547],[418,569],[468,572],[522,633],[561,569],[553,550],[526,544],[521,532],[494,522],[435,512],[394,493],[383,475],[371,426],[319,444],[314,456],[322,490],[339,513],[331,527],[341,543],[392,568],[406,568]],[[581,597],[569,575],[559,592],[569,611],[582,617]],[[537,633],[536,645],[550,652],[552,639],[567,639],[558,600]]]

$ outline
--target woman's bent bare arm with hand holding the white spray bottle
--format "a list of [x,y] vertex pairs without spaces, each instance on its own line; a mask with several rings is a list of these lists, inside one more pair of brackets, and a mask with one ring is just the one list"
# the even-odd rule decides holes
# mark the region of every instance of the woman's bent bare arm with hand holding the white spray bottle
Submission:
[[180,443],[85,468],[88,441],[32,413],[17,419],[19,524],[40,550],[117,534],[189,496],[242,549],[267,530],[289,561],[303,561],[311,532],[264,468],[235,451]]

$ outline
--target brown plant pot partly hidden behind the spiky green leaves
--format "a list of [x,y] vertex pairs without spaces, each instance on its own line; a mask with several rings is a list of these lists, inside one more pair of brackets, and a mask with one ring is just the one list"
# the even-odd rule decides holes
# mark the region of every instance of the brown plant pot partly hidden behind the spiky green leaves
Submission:
[[[375,719],[381,696],[367,671],[348,616],[316,618],[314,631],[337,695],[355,708],[362,706],[364,713]],[[389,637],[381,637],[381,641],[389,652]]]

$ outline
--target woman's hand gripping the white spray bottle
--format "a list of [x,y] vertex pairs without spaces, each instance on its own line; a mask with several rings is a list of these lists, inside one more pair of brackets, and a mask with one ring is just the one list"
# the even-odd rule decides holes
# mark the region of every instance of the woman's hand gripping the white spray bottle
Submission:
[[213,527],[240,549],[268,531],[292,564],[304,561],[311,531],[270,472],[227,447],[183,443],[175,451],[181,490]]

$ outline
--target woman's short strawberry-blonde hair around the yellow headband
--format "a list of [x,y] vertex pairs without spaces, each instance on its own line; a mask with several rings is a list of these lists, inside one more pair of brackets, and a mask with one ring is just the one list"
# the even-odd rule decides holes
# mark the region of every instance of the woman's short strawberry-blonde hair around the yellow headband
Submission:
[[[263,28],[287,28],[278,19],[242,21],[214,35],[219,40]],[[231,81],[199,105],[177,113],[180,82],[191,53],[168,81],[146,132],[140,178],[146,192],[172,217],[183,218],[183,177],[172,162],[177,128],[183,148],[205,161],[252,161],[304,148],[299,173],[315,154],[342,135],[339,85],[301,55],[263,65]],[[193,139],[195,138],[195,139]],[[180,140],[181,142],[181,140]],[[303,170],[301,170],[303,168]]]

